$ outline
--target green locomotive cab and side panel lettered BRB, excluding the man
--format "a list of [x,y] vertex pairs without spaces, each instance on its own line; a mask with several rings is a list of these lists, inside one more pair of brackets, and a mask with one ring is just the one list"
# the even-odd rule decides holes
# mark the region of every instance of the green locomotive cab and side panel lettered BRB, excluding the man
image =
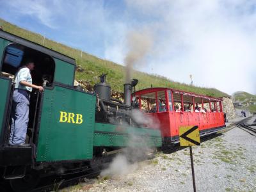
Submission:
[[[38,93],[33,90],[30,94],[26,135],[26,143],[30,144],[29,147],[10,146],[8,140],[14,91],[13,79],[27,59],[35,63],[35,68],[31,71],[33,84],[44,86],[44,92]],[[76,61],[73,58],[0,31],[1,179],[15,183],[17,178],[23,178],[29,172],[33,175],[35,170],[42,170],[44,163],[71,161],[70,156],[76,156],[77,159],[91,158],[92,138],[84,140],[82,144],[79,143],[82,138],[77,141],[70,140],[70,135],[73,138],[77,138],[77,135],[83,138],[90,137],[95,115],[95,95],[77,90],[73,86],[75,69]],[[83,100],[89,100],[88,104],[87,101],[84,102],[86,108],[81,105]],[[89,113],[92,109],[93,112]],[[67,114],[68,120],[65,119]],[[64,153],[60,150],[63,145],[66,145]],[[86,147],[74,150],[79,145]],[[54,169],[53,164],[52,167]]]

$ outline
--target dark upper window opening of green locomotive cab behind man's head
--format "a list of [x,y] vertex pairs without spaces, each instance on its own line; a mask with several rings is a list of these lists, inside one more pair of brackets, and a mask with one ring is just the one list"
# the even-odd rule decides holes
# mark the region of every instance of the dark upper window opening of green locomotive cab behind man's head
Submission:
[[54,79],[55,63],[51,56],[19,44],[10,44],[3,54],[1,75],[14,79],[24,61],[31,59],[35,70],[31,71],[33,84],[51,86]]

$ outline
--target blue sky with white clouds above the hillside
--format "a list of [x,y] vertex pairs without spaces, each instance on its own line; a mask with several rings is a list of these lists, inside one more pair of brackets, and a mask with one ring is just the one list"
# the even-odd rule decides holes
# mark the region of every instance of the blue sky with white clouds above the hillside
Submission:
[[[0,17],[125,65],[129,34],[150,37],[134,69],[228,94],[256,94],[256,1],[0,0]],[[138,41],[140,44],[140,41]]]

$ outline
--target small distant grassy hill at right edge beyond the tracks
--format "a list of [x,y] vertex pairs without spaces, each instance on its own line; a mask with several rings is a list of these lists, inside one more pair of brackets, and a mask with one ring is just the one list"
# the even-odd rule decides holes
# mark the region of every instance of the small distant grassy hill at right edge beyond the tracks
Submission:
[[246,92],[236,92],[232,95],[232,100],[235,103],[240,103],[237,108],[247,109],[251,113],[256,112],[256,95]]

